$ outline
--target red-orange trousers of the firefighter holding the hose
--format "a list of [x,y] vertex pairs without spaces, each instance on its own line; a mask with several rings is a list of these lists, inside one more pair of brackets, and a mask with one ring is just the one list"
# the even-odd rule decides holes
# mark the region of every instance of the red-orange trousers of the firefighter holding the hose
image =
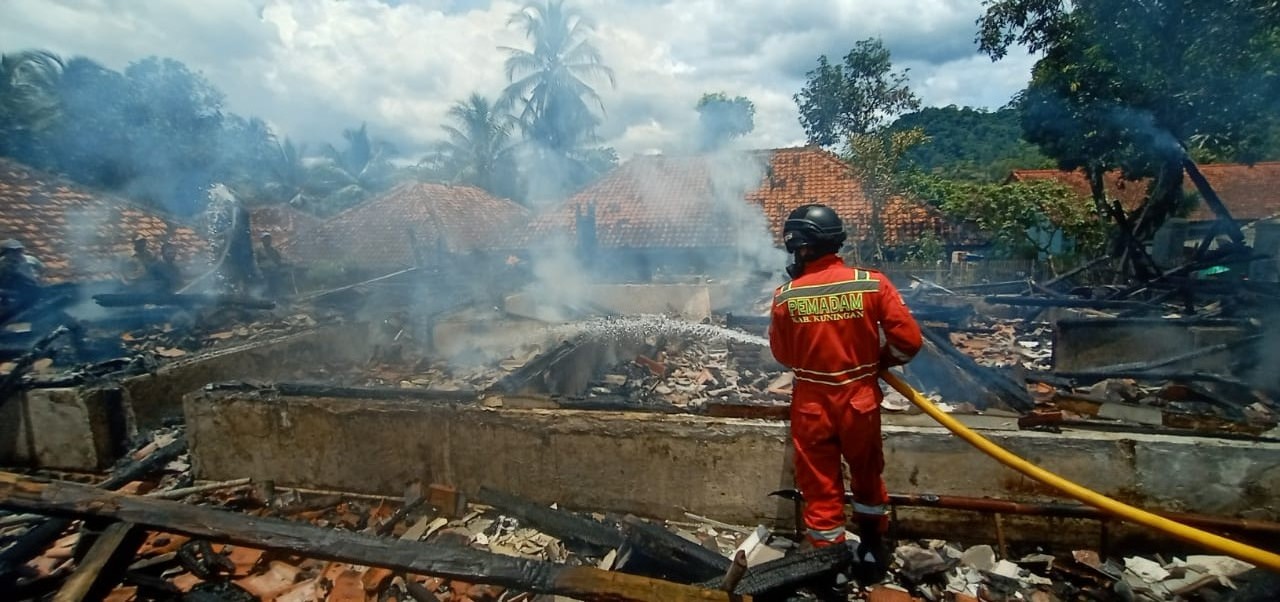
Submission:
[[791,405],[796,488],[804,496],[804,523],[810,532],[828,533],[845,526],[841,457],[849,462],[858,512],[867,517],[878,515],[877,521],[887,525],[879,409],[860,412],[850,402],[841,406],[831,409],[804,400],[792,400]]

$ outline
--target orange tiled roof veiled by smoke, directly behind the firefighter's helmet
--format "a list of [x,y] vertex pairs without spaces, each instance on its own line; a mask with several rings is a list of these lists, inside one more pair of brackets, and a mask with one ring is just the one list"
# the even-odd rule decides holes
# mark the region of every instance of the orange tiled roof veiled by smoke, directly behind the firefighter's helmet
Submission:
[[[594,206],[600,247],[733,246],[741,236],[735,216],[763,219],[780,243],[785,216],[810,202],[836,209],[852,227],[854,238],[870,236],[870,204],[859,181],[835,155],[800,147],[639,156],[538,215],[522,237],[536,243],[576,236],[576,215]],[[905,199],[891,200],[883,218],[888,246],[910,243],[925,231],[947,233],[937,210]]]

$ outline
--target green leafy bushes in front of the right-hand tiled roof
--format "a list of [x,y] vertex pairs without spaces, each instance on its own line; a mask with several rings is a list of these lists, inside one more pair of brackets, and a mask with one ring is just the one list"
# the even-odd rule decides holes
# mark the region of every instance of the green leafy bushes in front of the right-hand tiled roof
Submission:
[[960,182],[915,172],[902,186],[1011,256],[1052,255],[1052,237],[1044,234],[1061,233],[1070,245],[1065,251],[1082,256],[1101,252],[1106,240],[1107,228],[1093,206],[1057,182]]

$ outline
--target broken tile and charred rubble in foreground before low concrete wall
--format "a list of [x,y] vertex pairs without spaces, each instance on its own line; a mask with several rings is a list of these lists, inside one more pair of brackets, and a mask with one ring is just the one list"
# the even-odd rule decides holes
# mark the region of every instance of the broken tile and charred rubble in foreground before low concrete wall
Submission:
[[[287,524],[312,525],[333,533],[407,542],[421,546],[428,555],[471,549],[489,555],[483,558],[493,562],[522,558],[712,589],[718,588],[721,579],[707,579],[707,575],[717,576],[733,564],[733,558],[740,558],[746,576],[740,576],[733,587],[756,599],[1266,599],[1224,598],[1244,593],[1252,583],[1267,579],[1251,565],[1225,556],[1103,557],[1092,549],[1041,548],[1000,553],[988,544],[966,547],[942,539],[896,542],[888,576],[878,584],[860,585],[840,575],[845,566],[841,564],[814,567],[810,562],[797,569],[801,565],[795,564],[796,558],[818,556],[804,552],[796,544],[797,535],[785,530],[730,525],[696,515],[686,515],[687,521],[664,523],[568,512],[486,489],[479,492],[479,500],[467,500],[443,484],[412,483],[402,498],[278,488],[269,482],[248,479],[196,484],[186,456],[166,455],[174,448],[180,452],[182,446],[180,429],[157,433],[118,468],[118,473],[131,473],[129,480],[79,480],[128,496],[180,501],[180,506],[212,507],[257,519],[284,519]],[[160,461],[141,473],[132,470],[152,456]],[[51,520],[37,515],[0,517],[0,556],[10,555],[33,537],[41,521]],[[0,580],[10,579],[10,590],[17,596],[8,599],[41,599],[45,592],[68,587],[70,575],[87,562],[86,538],[92,542],[105,537],[96,523],[65,521],[61,526],[33,557],[22,562],[15,574],[0,575]],[[334,542],[335,549],[340,547],[338,539]],[[855,544],[856,537],[850,546]],[[335,551],[334,556],[342,553]],[[115,571],[109,575],[113,588],[104,598],[111,602],[557,599],[518,587],[475,583],[488,580],[484,575],[468,580],[413,574],[376,562],[321,560],[288,548],[224,544],[163,530],[148,530],[128,562],[101,570]],[[764,583],[771,585],[762,585]],[[838,597],[835,592],[840,592]]]

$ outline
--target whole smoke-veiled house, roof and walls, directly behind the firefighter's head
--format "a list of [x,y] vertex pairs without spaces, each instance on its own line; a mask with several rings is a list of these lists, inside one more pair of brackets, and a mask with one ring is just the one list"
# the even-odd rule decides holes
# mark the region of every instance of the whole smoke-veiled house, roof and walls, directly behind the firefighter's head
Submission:
[[[625,278],[714,273],[744,254],[781,248],[782,222],[805,204],[835,207],[850,245],[870,246],[872,206],[861,182],[818,147],[637,156],[540,213],[518,240],[532,250],[567,243]],[[902,197],[888,201],[882,223],[881,242],[891,250],[925,236],[945,245],[972,242],[961,241],[936,207]]]

